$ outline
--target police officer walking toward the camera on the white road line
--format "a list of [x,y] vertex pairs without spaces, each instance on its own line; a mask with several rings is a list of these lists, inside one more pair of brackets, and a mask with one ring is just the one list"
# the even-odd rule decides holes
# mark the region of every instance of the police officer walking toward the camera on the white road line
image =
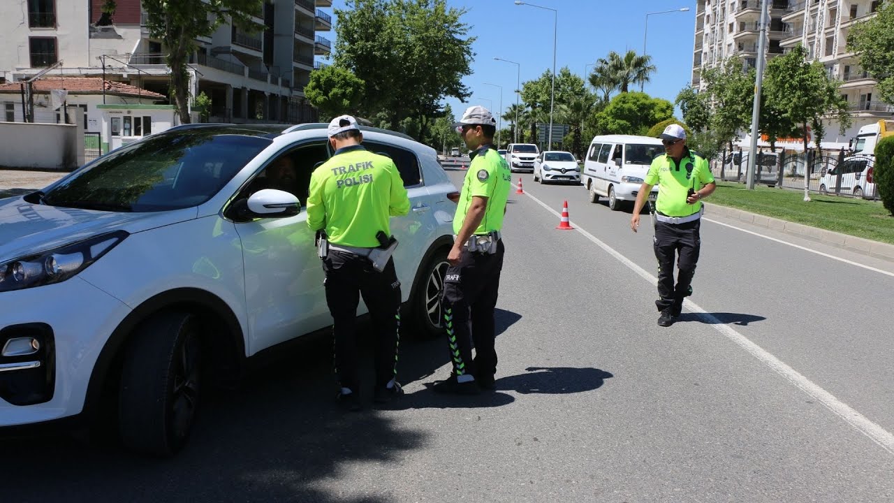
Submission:
[[[630,218],[630,228],[637,232],[639,212],[652,187],[658,183],[655,202],[654,251],[658,259],[658,300],[661,311],[658,325],[670,327],[679,317],[683,299],[692,294],[692,277],[701,248],[699,227],[704,213],[702,200],[717,187],[708,162],[689,150],[686,132],[679,124],[664,128],[662,139],[665,154],[654,158],[645,182],[637,194]],[[673,281],[673,262],[679,253],[677,285]]]

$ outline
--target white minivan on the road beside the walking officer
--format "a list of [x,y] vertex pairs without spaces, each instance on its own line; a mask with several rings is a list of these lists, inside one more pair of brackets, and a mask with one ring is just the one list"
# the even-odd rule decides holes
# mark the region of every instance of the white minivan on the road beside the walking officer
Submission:
[[[664,153],[662,141],[648,136],[608,134],[595,136],[586,152],[581,183],[590,193],[590,202],[608,198],[609,208],[620,209],[620,201],[637,200],[639,187],[652,165]],[[658,197],[658,186],[651,198]]]

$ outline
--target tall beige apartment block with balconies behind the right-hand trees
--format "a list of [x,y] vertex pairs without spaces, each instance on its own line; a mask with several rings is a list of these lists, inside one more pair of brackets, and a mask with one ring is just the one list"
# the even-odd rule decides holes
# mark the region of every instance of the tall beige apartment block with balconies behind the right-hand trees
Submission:
[[[839,134],[838,124],[826,128],[829,141],[856,136],[865,124],[894,115],[894,107],[873,98],[876,82],[859,67],[857,55],[848,51],[848,30],[875,15],[879,0],[769,0],[768,60],[802,44],[811,60],[826,67],[831,78],[843,81],[841,94],[848,99],[854,125]],[[760,38],[760,0],[696,0],[696,40],[692,84],[704,88],[702,71],[738,56],[755,66]]]

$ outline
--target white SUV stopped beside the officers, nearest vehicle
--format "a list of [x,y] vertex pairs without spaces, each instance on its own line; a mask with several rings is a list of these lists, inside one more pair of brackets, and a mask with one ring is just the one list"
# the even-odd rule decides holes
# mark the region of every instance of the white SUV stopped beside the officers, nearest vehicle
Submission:
[[[364,140],[411,202],[392,218],[401,330],[436,333],[459,193],[434,149],[370,128]],[[325,124],[194,124],[0,200],[0,431],[112,419],[128,448],[170,455],[203,388],[331,326],[301,210],[331,155]],[[283,157],[294,169],[274,178]]]

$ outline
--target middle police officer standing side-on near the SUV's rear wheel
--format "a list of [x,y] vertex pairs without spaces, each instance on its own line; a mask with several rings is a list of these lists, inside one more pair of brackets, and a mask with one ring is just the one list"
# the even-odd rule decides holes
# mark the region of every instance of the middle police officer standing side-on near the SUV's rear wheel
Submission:
[[434,391],[473,395],[494,388],[493,308],[505,251],[500,233],[511,175],[506,160],[493,148],[496,121],[485,107],[468,107],[454,125],[472,153],[453,217],[456,237],[444,279],[444,326],[453,370],[449,379],[434,383]]

